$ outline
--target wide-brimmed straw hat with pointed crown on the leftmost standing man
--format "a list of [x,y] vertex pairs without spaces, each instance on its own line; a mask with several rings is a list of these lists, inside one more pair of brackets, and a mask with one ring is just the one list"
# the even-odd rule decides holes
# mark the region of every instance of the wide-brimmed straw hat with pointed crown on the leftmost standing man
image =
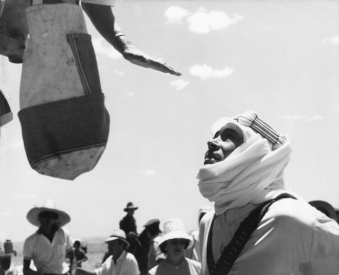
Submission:
[[40,227],[38,216],[43,211],[55,212],[58,214],[58,219],[55,221],[58,227],[62,227],[66,223],[69,223],[71,221],[71,217],[69,216],[69,214],[56,208],[53,199],[48,199],[43,207],[32,208],[30,211],[28,211],[26,218],[30,223],[33,224],[33,226]]

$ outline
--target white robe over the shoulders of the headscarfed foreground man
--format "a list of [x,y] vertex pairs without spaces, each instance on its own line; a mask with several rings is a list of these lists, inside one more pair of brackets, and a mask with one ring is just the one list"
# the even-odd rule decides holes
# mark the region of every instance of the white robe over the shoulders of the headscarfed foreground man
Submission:
[[[207,241],[214,213],[200,223],[202,275],[209,275]],[[283,198],[269,207],[228,274],[337,275],[338,259],[338,224],[305,201]]]

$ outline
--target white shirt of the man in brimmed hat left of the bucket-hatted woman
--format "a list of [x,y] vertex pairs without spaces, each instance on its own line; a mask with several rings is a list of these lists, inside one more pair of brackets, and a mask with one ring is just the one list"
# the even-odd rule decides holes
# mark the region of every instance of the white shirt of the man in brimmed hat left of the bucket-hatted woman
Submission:
[[138,262],[135,257],[123,251],[120,257],[117,260],[117,263],[114,263],[112,256],[109,256],[106,261],[101,265],[100,268],[96,269],[97,275],[139,275],[140,270]]

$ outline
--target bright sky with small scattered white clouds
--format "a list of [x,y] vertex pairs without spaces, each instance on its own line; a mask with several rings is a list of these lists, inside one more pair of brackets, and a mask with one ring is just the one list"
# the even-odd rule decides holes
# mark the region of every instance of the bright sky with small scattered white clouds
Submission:
[[53,199],[74,238],[109,236],[133,202],[137,230],[152,218],[198,228],[196,173],[210,127],[255,110],[291,140],[285,187],[339,208],[338,4],[335,1],[118,0],[126,36],[170,74],[124,60],[86,19],[110,132],[97,166],[74,181],[31,169],[17,117],[21,65],[0,58],[14,119],[0,137],[0,246],[37,228],[26,215]]

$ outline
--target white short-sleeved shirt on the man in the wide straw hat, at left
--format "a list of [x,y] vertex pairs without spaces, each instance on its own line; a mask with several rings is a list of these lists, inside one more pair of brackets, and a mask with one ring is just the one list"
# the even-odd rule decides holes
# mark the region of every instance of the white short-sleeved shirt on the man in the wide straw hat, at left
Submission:
[[69,231],[59,228],[50,240],[38,231],[29,236],[24,243],[24,259],[33,260],[40,273],[63,274],[69,270],[66,253],[72,251]]

